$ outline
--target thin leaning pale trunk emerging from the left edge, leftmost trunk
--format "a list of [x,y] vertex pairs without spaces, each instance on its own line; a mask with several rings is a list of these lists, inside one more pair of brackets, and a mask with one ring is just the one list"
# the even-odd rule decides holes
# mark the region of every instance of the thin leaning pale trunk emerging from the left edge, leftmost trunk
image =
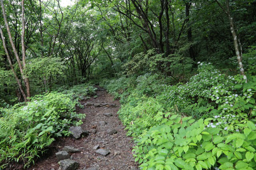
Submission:
[[16,74],[16,72],[15,72],[15,70],[14,70],[14,68],[13,68],[12,61],[11,61],[10,55],[9,55],[9,53],[8,53],[8,50],[7,50],[5,41],[4,41],[4,33],[3,33],[3,31],[2,31],[2,27],[0,27],[0,34],[1,34],[1,39],[2,39],[2,41],[3,41],[4,51],[5,51],[5,53],[6,53],[8,62],[9,62],[9,64],[10,64],[10,67],[11,67],[11,69],[12,69],[12,72],[13,72],[13,74],[14,74],[14,77],[15,77],[17,83],[18,83],[18,86],[19,86],[19,88],[20,88],[20,92],[21,92],[21,94],[22,94],[22,96],[23,96],[23,98],[24,98],[24,101],[26,102],[26,101],[27,101],[27,96],[26,96],[26,94],[24,93],[24,90],[23,90],[23,88],[22,88],[22,84],[20,83],[20,80],[19,80],[19,78],[18,78],[18,76],[17,76],[17,74]]

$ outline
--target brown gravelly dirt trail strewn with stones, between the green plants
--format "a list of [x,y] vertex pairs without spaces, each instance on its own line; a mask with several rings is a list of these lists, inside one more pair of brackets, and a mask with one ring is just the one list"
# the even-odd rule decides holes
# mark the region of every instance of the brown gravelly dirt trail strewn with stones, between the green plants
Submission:
[[[78,113],[85,113],[82,129],[89,131],[89,135],[75,139],[72,137],[62,137],[55,141],[47,151],[47,156],[35,162],[30,170],[61,170],[55,153],[62,150],[64,146],[71,146],[80,149],[80,152],[70,153],[71,158],[79,163],[79,170],[137,170],[138,165],[132,157],[132,147],[134,143],[131,137],[126,136],[124,125],[118,119],[117,111],[120,109],[118,100],[113,100],[113,96],[106,90],[98,88],[97,98],[90,98],[82,101],[81,104],[92,102],[97,104],[115,104],[115,107],[85,106],[84,109],[77,109]],[[104,113],[112,113],[107,117]],[[100,121],[105,121],[106,125],[100,125]],[[109,135],[109,129],[116,129],[117,133]],[[101,141],[102,140],[102,141]],[[94,147],[106,149],[110,153],[102,156],[96,153]]]

